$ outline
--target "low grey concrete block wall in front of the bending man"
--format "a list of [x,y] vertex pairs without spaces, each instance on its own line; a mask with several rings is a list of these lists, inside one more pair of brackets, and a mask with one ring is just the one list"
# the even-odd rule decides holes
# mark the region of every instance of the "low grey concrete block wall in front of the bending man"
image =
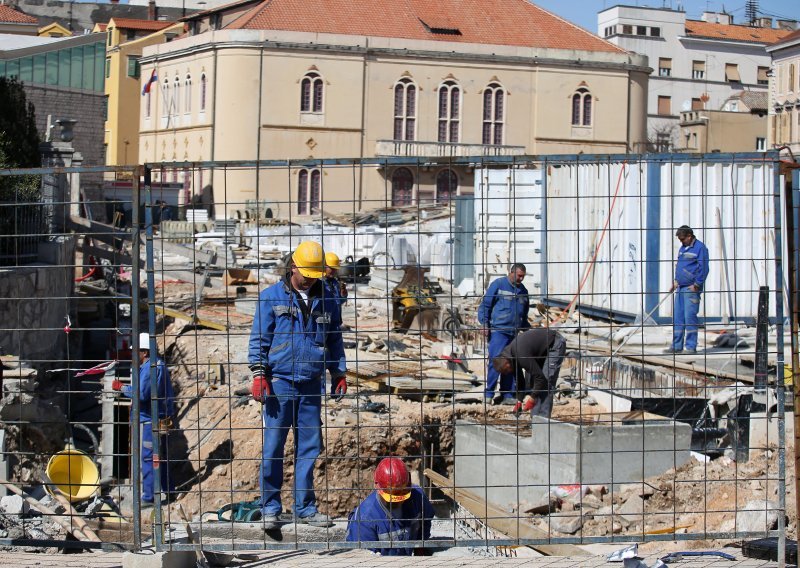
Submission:
[[689,460],[692,429],[672,420],[576,425],[533,418],[532,435],[456,423],[455,485],[499,507],[540,503],[554,485],[620,485]]

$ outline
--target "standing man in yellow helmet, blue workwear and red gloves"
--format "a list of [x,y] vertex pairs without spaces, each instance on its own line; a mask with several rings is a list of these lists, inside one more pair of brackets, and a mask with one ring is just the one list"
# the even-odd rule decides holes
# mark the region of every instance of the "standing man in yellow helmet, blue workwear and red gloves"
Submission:
[[298,522],[327,527],[317,510],[314,462],[322,450],[321,382],[331,375],[331,396],[347,392],[341,313],[326,297],[322,245],[300,243],[283,280],[259,294],[248,362],[253,398],[262,403],[261,512],[266,530],[279,527],[283,456],[289,429],[295,435],[294,513]]

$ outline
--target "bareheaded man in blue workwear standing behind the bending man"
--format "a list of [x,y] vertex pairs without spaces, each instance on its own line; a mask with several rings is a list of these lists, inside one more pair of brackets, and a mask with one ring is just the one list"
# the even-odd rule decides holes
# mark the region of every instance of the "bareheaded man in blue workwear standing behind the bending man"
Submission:
[[[508,276],[498,278],[489,285],[478,308],[478,321],[489,340],[489,368],[484,396],[492,404],[514,403],[514,376],[498,374],[492,360],[500,355],[520,330],[531,326],[528,322],[528,290],[522,284],[525,273],[524,264],[511,265]],[[495,393],[498,382],[499,388]]]

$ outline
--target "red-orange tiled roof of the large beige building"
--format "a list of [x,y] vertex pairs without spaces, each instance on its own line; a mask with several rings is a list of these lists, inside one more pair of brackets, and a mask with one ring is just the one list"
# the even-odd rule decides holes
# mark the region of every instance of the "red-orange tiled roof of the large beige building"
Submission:
[[265,0],[227,27],[624,52],[528,0]]

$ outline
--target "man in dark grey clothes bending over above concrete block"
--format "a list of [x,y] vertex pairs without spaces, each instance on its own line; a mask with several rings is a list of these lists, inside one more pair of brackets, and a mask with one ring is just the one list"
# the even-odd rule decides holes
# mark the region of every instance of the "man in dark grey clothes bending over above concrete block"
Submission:
[[515,413],[525,410],[550,418],[566,351],[567,341],[560,333],[541,327],[519,334],[492,360],[498,373],[516,378]]

